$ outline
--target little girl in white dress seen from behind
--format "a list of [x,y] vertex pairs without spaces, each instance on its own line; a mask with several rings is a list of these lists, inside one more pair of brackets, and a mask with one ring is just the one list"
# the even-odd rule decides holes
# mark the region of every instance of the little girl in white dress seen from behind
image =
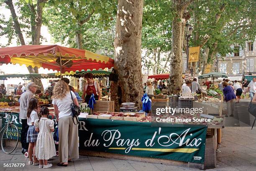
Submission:
[[54,131],[54,121],[48,119],[49,109],[42,107],[40,110],[41,119],[35,121],[36,131],[39,131],[36,143],[35,155],[39,160],[39,168],[49,168],[52,164],[47,163],[48,159],[56,156],[54,139],[51,132]]

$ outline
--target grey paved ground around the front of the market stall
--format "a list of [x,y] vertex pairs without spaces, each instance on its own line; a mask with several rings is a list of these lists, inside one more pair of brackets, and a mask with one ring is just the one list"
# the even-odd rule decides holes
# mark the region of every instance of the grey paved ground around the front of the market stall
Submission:
[[[236,113],[233,118],[228,117],[228,122],[236,122],[235,127],[223,129],[222,143],[219,145],[220,152],[217,153],[218,166],[207,171],[256,171],[256,127],[238,127],[248,123],[248,101],[243,100],[236,104]],[[240,118],[238,120],[238,118]],[[242,120],[242,121],[241,121]],[[247,124],[248,125],[248,124]],[[19,168],[4,168],[4,163],[28,163],[28,159],[17,149],[14,155],[7,155],[0,151],[0,171],[37,171],[38,166]],[[187,168],[174,165],[143,163],[137,161],[117,160],[109,158],[80,156],[73,160],[68,167],[56,166],[58,158],[54,157],[50,163],[52,171],[198,171],[199,169]]]

